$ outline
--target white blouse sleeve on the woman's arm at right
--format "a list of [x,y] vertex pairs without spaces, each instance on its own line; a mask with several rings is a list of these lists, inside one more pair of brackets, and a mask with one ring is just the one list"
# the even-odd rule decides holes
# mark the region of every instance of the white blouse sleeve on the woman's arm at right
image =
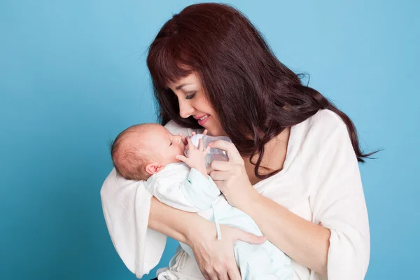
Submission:
[[341,120],[324,147],[311,207],[314,223],[331,232],[328,279],[361,280],[370,258],[369,222],[358,162]]

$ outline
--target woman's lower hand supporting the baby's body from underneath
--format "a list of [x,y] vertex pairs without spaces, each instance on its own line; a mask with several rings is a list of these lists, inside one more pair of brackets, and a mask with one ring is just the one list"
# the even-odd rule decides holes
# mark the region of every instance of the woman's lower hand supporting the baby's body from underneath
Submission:
[[188,236],[188,245],[193,249],[195,259],[207,280],[241,280],[237,267],[233,245],[241,240],[250,244],[262,244],[265,237],[258,237],[249,232],[221,225],[222,239],[216,237],[216,226],[203,219]]

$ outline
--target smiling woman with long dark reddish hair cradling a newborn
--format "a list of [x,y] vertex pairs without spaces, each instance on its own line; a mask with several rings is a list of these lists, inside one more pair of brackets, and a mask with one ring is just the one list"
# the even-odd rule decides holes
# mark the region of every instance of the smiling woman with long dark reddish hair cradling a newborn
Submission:
[[[344,113],[302,85],[251,22],[223,4],[174,15],[147,63],[162,124],[232,139],[214,142],[230,162],[213,162],[209,175],[290,256],[296,279],[364,278],[370,234],[358,162],[368,155]],[[197,262],[179,250],[159,279],[241,279],[234,242],[265,241],[226,225],[217,240],[212,223],[167,207],[115,172],[102,202],[114,246],[139,277],[159,261],[165,235],[193,248]]]

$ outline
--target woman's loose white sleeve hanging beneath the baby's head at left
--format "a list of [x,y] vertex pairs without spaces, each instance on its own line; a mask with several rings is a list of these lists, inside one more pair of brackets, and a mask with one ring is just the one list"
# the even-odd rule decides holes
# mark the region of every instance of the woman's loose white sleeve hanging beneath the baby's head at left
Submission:
[[[167,129],[190,135],[185,129],[170,121]],[[131,272],[141,278],[158,265],[165,249],[165,235],[148,228],[151,205],[144,181],[127,181],[113,169],[101,188],[102,209],[106,226],[118,255]]]

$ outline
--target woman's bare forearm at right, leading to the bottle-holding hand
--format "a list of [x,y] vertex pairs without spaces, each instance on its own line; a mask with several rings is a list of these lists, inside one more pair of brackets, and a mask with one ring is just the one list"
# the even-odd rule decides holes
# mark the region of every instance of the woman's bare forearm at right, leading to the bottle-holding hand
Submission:
[[260,194],[241,210],[251,216],[262,234],[290,258],[320,274],[327,274],[330,230],[293,214]]

